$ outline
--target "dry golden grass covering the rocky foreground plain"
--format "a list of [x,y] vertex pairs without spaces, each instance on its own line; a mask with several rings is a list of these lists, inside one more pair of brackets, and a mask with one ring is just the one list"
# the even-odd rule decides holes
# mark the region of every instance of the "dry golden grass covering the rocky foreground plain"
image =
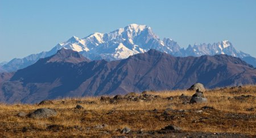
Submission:
[[[144,132],[159,131],[161,128],[174,124],[186,132],[228,132],[256,135],[256,85],[242,88],[226,88],[207,90],[204,93],[207,103],[183,104],[180,95],[192,96],[195,92],[172,90],[148,92],[159,95],[153,101],[127,101],[105,103],[100,97],[65,98],[54,100],[48,105],[0,104],[0,135],[6,137],[110,137],[122,135],[118,129],[130,127],[134,133],[143,129]],[[251,95],[252,97],[236,100],[234,97]],[[174,97],[174,100],[167,100]],[[93,101],[93,103],[89,103]],[[80,104],[82,110],[75,109]],[[203,106],[213,106],[215,110],[203,110]],[[46,119],[17,117],[20,111],[32,111],[48,107],[57,110],[57,116]],[[247,111],[251,107],[254,111]],[[163,115],[167,108],[172,108],[168,115]],[[158,111],[152,111],[157,109]],[[184,110],[184,111],[181,111]],[[110,113],[110,111],[112,111]],[[53,124],[63,128],[47,129]],[[96,125],[108,124],[104,128]]]

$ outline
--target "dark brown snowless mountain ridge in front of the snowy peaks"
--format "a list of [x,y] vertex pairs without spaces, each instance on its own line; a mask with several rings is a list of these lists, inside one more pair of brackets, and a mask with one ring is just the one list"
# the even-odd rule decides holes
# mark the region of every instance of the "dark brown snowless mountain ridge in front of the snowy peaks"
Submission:
[[0,102],[5,103],[186,89],[197,82],[207,88],[256,83],[256,69],[240,58],[223,54],[174,57],[154,49],[126,59],[91,61],[62,48],[0,76]]

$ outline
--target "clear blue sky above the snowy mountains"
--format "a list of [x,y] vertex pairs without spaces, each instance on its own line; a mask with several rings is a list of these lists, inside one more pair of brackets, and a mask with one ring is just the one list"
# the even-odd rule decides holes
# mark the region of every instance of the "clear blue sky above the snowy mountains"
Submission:
[[149,25],[181,47],[229,40],[256,57],[255,0],[0,0],[0,62],[131,23]]

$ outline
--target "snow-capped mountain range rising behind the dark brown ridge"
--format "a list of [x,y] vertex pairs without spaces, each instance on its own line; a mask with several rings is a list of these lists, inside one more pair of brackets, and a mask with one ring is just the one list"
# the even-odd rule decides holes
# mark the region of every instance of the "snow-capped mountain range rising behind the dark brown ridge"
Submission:
[[61,48],[78,51],[90,60],[105,59],[106,61],[125,59],[130,55],[144,53],[150,49],[162,51],[175,57],[227,54],[241,58],[256,67],[256,58],[242,51],[237,51],[229,41],[189,45],[187,49],[184,49],[180,48],[177,42],[171,38],[160,40],[147,25],[130,24],[110,33],[96,32],[84,38],[73,36],[68,41],[57,44],[49,51],[31,54],[21,59],[15,58],[10,62],[2,63],[0,64],[0,72],[13,72],[25,68],[34,64],[40,58],[56,54],[57,50]]

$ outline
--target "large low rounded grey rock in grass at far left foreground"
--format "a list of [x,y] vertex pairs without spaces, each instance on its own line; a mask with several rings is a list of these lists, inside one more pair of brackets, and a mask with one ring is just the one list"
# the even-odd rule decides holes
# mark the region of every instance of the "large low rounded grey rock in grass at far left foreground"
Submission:
[[28,114],[27,116],[29,118],[49,118],[49,117],[55,117],[56,115],[57,115],[57,111],[55,109],[40,108]]

